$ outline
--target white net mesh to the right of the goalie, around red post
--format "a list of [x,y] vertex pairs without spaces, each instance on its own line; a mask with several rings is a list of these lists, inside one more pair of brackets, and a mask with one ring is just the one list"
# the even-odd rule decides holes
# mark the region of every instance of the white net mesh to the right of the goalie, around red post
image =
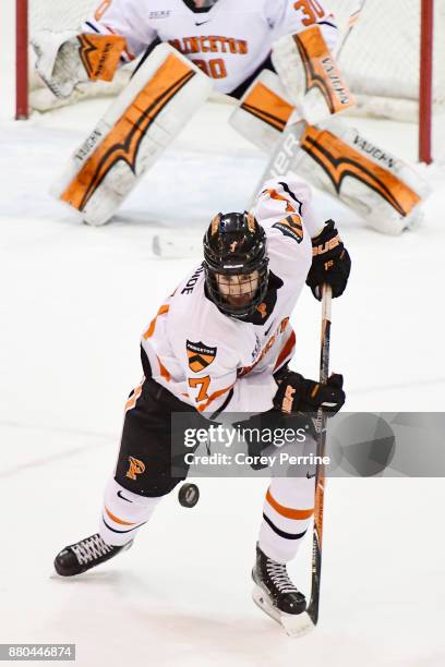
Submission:
[[[351,0],[330,0],[341,21]],[[364,110],[413,120],[420,82],[421,0],[366,0],[339,64]],[[434,2],[433,100],[445,111],[445,1]]]

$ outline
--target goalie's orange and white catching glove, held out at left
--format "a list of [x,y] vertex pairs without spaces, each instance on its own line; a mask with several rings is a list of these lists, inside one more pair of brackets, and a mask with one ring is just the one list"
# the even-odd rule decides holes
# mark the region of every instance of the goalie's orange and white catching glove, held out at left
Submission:
[[39,76],[56,97],[64,99],[81,83],[112,81],[125,40],[117,35],[41,31],[32,45]]

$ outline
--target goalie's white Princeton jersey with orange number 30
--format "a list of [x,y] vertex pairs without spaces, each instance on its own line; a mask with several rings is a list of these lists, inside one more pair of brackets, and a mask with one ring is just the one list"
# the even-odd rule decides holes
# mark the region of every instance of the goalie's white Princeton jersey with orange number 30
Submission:
[[124,37],[124,60],[156,39],[168,41],[211,76],[219,93],[249,78],[284,35],[316,23],[330,50],[338,41],[324,0],[218,0],[208,11],[191,7],[187,0],[104,0],[82,31]]

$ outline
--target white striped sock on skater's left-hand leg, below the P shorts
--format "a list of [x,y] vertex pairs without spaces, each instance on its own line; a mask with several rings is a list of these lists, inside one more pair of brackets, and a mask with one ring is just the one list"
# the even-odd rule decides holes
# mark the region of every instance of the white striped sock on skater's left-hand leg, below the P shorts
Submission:
[[152,517],[160,498],[139,496],[113,478],[109,480],[105,488],[100,537],[113,546],[127,544]]

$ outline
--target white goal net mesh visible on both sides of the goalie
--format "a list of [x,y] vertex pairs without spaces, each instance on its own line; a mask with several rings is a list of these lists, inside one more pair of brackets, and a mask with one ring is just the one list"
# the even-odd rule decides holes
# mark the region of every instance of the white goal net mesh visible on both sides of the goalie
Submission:
[[[103,0],[104,4],[108,0]],[[429,1],[429,0],[426,0]],[[423,0],[425,2],[425,0]],[[327,0],[345,33],[357,0]],[[97,8],[98,0],[28,0],[29,37],[40,29],[75,29]],[[341,70],[358,102],[359,111],[376,117],[417,121],[419,118],[420,26],[422,0],[366,0],[360,20],[339,56]],[[433,110],[445,112],[445,0],[434,2]],[[112,84],[85,85],[69,102],[86,97],[115,95],[131,71],[123,68]],[[29,106],[38,111],[60,106],[41,86],[29,66]],[[422,122],[425,122],[424,120]]]

